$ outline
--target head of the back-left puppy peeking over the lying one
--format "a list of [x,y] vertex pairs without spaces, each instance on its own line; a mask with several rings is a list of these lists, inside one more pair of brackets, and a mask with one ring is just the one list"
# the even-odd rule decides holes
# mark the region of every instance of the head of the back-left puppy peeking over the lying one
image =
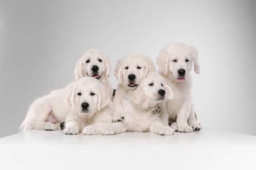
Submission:
[[81,77],[94,77],[103,79],[110,77],[111,65],[103,53],[97,49],[90,49],[76,62],[74,75],[76,79]]

